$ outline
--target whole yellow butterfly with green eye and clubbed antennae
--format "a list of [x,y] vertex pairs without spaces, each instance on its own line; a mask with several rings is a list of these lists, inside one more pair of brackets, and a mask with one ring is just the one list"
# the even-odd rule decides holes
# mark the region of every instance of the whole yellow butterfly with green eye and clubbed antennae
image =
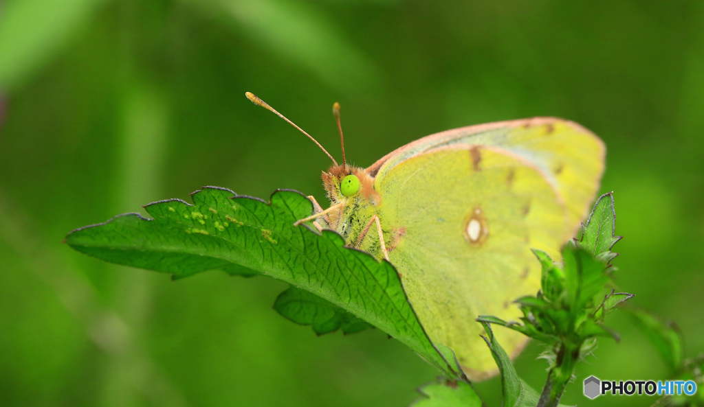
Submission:
[[[339,126],[337,103],[334,112]],[[346,164],[344,146],[342,164],[325,153],[334,162],[322,174],[332,205],[313,199],[316,213],[297,224],[315,219],[346,245],[391,261],[430,339],[482,380],[496,364],[474,319],[521,316],[513,300],[540,288],[530,248],[559,258],[595,198],[605,146],[579,124],[536,117],[425,136],[366,169]],[[496,336],[512,356],[527,342],[513,330]]]

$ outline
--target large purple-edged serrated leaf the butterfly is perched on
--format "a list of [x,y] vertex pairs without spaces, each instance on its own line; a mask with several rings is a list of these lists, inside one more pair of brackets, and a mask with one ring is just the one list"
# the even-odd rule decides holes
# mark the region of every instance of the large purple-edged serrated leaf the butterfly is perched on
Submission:
[[206,187],[194,205],[165,200],[146,206],[154,219],[120,215],[69,233],[73,249],[117,264],[188,276],[244,269],[285,281],[376,326],[406,344],[448,377],[452,371],[408,303],[394,266],[344,247],[332,231],[293,226],[313,213],[301,193],[277,190],[271,202]]

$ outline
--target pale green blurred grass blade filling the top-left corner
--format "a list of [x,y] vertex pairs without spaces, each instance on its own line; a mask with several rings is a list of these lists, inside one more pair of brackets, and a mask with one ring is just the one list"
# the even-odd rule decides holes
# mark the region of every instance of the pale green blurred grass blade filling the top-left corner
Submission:
[[106,0],[15,0],[0,11],[0,89],[23,84]]

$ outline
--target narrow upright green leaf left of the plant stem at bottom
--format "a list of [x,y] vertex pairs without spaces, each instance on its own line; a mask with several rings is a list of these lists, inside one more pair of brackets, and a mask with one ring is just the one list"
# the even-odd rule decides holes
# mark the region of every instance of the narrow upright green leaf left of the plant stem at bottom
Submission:
[[503,392],[503,406],[506,407],[534,407],[538,403],[539,394],[532,387],[527,385],[516,373],[516,369],[511,363],[511,359],[503,350],[500,344],[494,337],[494,332],[491,331],[491,325],[482,322],[486,337],[484,342],[491,350],[491,356],[494,356],[496,366],[501,372],[501,391]]

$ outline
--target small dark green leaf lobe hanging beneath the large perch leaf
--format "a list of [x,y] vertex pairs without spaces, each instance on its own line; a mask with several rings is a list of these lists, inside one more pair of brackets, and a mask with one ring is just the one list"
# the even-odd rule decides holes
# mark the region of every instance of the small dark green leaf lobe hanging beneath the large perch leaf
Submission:
[[365,321],[348,313],[318,295],[291,287],[279,294],[274,309],[284,318],[301,325],[311,325],[313,331],[323,335],[342,328],[345,333],[372,328]]

